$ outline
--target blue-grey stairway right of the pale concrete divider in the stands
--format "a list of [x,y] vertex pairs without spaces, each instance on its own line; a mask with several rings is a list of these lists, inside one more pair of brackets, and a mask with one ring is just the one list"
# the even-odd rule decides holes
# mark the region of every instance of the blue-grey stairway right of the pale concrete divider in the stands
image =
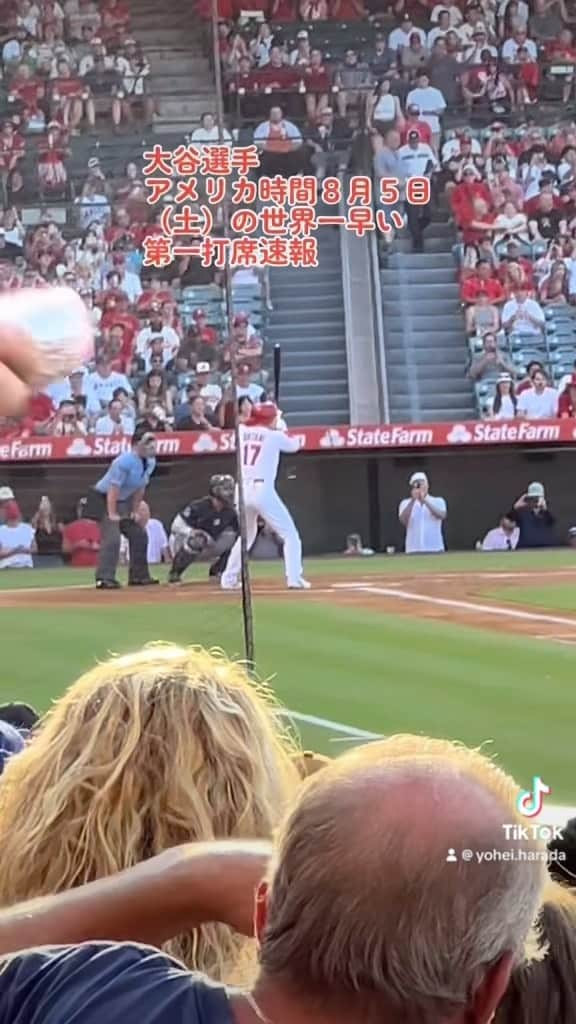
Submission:
[[424,252],[400,240],[380,271],[390,419],[426,423],[475,419],[453,234],[435,221]]

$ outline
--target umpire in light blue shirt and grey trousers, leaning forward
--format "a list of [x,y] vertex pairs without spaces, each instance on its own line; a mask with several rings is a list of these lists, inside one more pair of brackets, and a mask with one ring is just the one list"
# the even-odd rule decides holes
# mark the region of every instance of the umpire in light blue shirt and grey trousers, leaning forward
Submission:
[[94,484],[88,501],[90,517],[101,520],[96,567],[98,590],[118,590],[121,586],[116,579],[116,569],[122,534],[128,539],[129,586],[149,587],[158,583],[158,580],[152,579],[148,567],[147,531],[134,519],[155,469],[156,437],[150,430],[136,428],[130,452],[119,455]]

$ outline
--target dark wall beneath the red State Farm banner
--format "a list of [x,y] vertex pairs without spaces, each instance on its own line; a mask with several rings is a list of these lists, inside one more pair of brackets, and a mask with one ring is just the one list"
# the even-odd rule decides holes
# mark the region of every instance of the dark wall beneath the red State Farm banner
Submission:
[[[48,495],[66,521],[105,468],[94,462],[12,463],[0,469],[0,483],[13,487],[25,516]],[[430,493],[448,502],[449,550],[470,550],[532,480],[546,488],[560,543],[566,543],[569,526],[576,525],[576,454],[566,449],[302,454],[284,460],[279,489],[306,553],[341,551],[349,532],[361,534],[377,550],[400,550],[398,504],[417,469],[427,473]],[[233,471],[233,460],[221,456],[162,462],[149,488],[153,514],[169,525],[178,509],[206,492],[212,473]]]

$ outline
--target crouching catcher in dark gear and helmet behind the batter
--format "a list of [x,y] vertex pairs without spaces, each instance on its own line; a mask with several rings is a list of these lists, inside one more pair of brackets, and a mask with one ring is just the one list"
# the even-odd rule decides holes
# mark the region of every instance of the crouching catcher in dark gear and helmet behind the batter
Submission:
[[170,527],[174,557],[168,583],[180,583],[189,565],[204,554],[217,555],[210,566],[210,577],[223,572],[240,531],[234,507],[235,488],[233,476],[221,473],[211,476],[206,498],[191,502],[174,517]]

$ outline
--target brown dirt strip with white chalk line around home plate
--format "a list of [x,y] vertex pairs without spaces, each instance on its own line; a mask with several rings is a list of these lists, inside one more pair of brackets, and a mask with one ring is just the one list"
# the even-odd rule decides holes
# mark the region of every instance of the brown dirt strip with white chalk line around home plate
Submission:
[[[545,572],[395,572],[363,575],[362,565],[355,577],[319,577],[313,580],[311,591],[287,591],[273,582],[257,581],[254,596],[278,600],[323,603],[356,608],[381,610],[419,620],[437,620],[492,632],[529,635],[558,643],[576,644],[576,571],[558,569]],[[526,606],[518,602],[499,604],[487,597],[496,586],[499,590],[519,587],[523,583],[574,583],[574,614],[554,612],[545,607]],[[222,593],[207,582],[184,584],[181,587],[152,587],[101,593],[91,587],[0,591],[0,607],[54,608],[99,607],[111,604],[129,605],[237,602],[237,593]]]

